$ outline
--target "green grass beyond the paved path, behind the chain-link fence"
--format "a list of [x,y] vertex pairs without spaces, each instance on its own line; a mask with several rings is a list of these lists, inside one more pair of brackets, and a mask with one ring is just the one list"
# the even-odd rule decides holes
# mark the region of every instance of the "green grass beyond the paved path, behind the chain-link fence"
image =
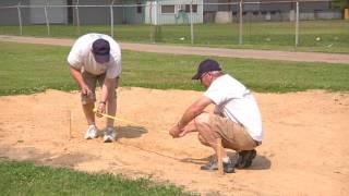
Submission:
[[[299,46],[294,47],[294,22],[244,22],[243,45],[239,45],[239,24],[195,24],[194,45],[224,48],[253,48],[288,51],[349,53],[349,21],[301,21]],[[115,25],[119,41],[191,45],[190,25]],[[110,26],[51,25],[50,36],[75,38],[85,33],[111,34]],[[19,26],[0,26],[0,34],[19,35]],[[24,26],[24,36],[45,37],[47,26]],[[320,39],[320,40],[316,40]]]

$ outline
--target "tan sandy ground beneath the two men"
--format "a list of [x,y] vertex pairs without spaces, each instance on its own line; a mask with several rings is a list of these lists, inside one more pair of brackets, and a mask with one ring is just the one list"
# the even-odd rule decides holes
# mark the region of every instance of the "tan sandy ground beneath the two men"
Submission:
[[[0,97],[0,158],[173,183],[203,195],[349,195],[349,94],[254,94],[265,140],[248,170],[201,171],[213,151],[167,131],[198,91],[118,89],[118,140],[85,140],[79,93]],[[104,127],[105,119],[98,119]],[[236,159],[236,152],[229,151]]]

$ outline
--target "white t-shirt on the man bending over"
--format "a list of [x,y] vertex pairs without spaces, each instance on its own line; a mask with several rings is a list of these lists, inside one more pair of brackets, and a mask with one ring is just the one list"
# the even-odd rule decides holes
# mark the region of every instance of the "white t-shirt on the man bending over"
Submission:
[[[109,41],[110,60],[105,64],[95,61],[92,45],[96,39],[103,38]],[[116,78],[121,74],[121,49],[110,36],[104,34],[86,34],[81,36],[73,45],[68,62],[71,66],[86,71],[94,75],[106,73],[107,78]]]

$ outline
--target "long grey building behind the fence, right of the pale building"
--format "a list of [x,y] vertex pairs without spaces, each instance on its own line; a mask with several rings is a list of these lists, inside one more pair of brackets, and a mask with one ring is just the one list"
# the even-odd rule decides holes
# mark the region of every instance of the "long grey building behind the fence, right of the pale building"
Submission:
[[[205,23],[231,23],[240,17],[240,0],[205,0]],[[297,1],[243,0],[244,21],[294,21]],[[299,0],[300,20],[341,19],[339,10],[332,10],[332,1]]]

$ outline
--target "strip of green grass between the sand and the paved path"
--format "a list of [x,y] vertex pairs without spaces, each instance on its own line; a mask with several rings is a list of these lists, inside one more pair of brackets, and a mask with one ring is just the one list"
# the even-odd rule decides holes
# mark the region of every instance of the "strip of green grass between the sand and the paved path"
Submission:
[[[0,95],[33,94],[47,88],[76,89],[69,75],[69,47],[1,42]],[[123,50],[121,86],[203,90],[191,81],[200,56]],[[254,91],[349,90],[348,64],[216,58],[225,71]]]

